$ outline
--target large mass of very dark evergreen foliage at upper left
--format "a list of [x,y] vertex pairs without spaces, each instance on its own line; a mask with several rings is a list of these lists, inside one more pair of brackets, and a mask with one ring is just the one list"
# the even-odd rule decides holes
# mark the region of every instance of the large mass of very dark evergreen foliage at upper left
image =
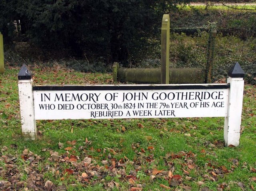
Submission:
[[159,33],[162,14],[180,2],[188,0],[3,0],[0,31],[13,38],[13,22],[20,20],[21,34],[40,47],[124,61],[132,48]]

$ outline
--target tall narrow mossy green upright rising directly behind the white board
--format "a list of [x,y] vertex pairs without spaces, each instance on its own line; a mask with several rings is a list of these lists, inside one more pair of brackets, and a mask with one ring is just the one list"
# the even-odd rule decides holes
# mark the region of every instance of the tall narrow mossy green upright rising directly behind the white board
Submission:
[[161,28],[161,84],[169,83],[170,16],[164,14]]

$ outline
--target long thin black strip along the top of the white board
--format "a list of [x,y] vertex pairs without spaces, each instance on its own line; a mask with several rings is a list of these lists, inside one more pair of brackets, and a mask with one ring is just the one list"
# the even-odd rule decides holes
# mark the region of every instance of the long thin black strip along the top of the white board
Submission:
[[81,90],[184,90],[184,89],[229,89],[230,84],[205,85],[96,85],[96,86],[33,86],[33,91],[81,91]]

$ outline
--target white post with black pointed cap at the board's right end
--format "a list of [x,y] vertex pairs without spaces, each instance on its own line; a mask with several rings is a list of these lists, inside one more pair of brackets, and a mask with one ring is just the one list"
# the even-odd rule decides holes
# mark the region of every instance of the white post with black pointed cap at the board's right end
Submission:
[[224,142],[226,146],[238,146],[242,118],[244,71],[237,62],[228,72],[228,75],[230,90],[228,96],[228,114],[224,122]]

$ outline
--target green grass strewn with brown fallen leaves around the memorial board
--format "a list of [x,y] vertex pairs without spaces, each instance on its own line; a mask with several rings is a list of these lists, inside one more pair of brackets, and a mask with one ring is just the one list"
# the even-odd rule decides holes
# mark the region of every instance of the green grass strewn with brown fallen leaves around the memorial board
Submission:
[[[38,139],[31,141],[21,135],[18,71],[19,67],[6,66],[0,78],[0,180],[23,182],[16,190],[31,184],[44,188],[46,181],[68,191],[128,190],[140,186],[143,190],[164,190],[162,185],[170,190],[186,190],[182,187],[187,186],[193,191],[203,187],[214,191],[256,187],[251,180],[256,177],[255,86],[246,85],[244,89],[243,132],[236,148],[223,144],[223,118],[40,120],[37,121]],[[31,71],[36,85],[113,83],[109,73],[81,73],[58,65],[34,66]],[[76,144],[67,143],[72,140]],[[64,144],[62,148],[59,142]],[[72,149],[64,150],[67,147]],[[32,152],[30,156],[24,154],[26,149]],[[54,152],[62,160],[55,161]],[[72,156],[77,161],[65,161],[64,158]],[[83,172],[91,173],[81,166],[86,157],[92,159],[92,169],[102,167],[102,176],[81,180]],[[32,173],[28,168],[36,176],[42,175],[38,184],[31,183]],[[172,171],[182,179],[173,185],[161,172],[152,178],[154,169]],[[130,177],[135,179],[134,183]],[[0,188],[3,189],[1,185]]]

